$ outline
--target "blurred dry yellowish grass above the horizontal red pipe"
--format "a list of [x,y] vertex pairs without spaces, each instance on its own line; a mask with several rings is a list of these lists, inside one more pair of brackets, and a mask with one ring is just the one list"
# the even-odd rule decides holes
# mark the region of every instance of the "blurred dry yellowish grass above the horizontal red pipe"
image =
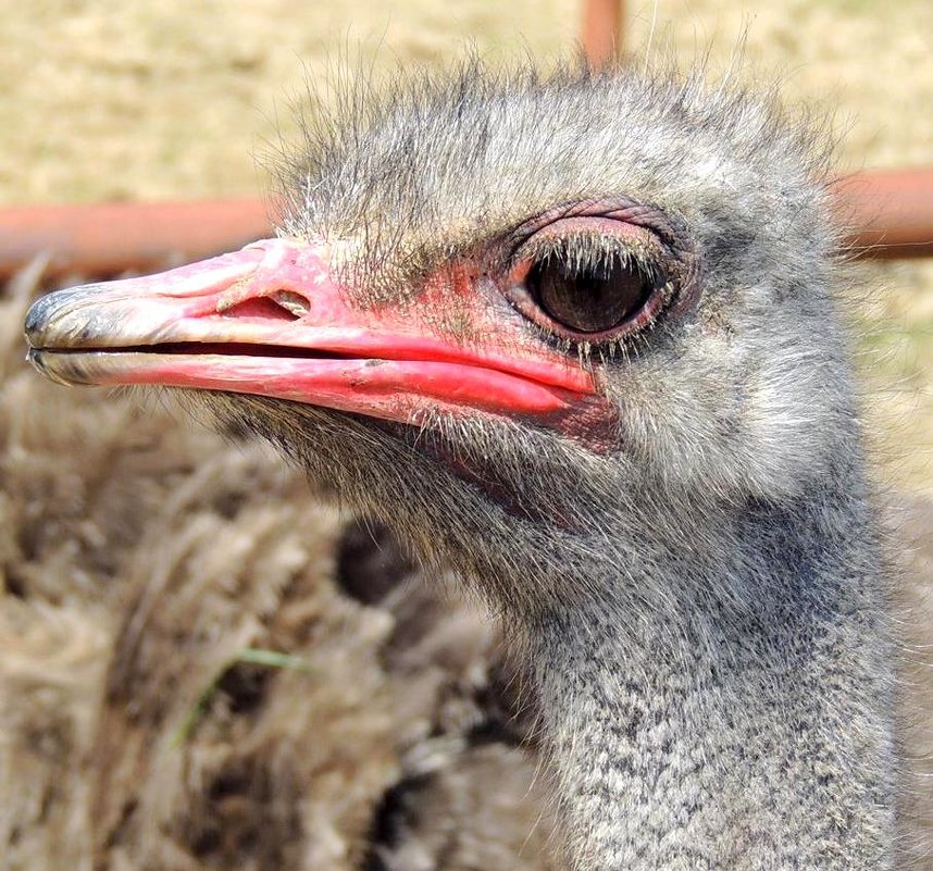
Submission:
[[[926,0],[626,7],[636,64],[673,49],[685,65],[708,55],[721,71],[744,45],[739,67],[838,119],[844,165],[933,157]],[[493,64],[531,57],[546,67],[573,50],[582,18],[574,0],[3,0],[0,10],[5,202],[253,194],[264,186],[254,155],[276,128],[293,129],[288,104],[304,76],[332,77],[340,50],[377,72],[444,66],[471,45]]]

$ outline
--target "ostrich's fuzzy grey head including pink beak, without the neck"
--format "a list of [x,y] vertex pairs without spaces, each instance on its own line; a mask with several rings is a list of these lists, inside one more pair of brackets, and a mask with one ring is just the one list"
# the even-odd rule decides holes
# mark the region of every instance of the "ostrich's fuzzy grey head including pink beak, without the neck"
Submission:
[[643,523],[785,499],[839,450],[810,146],[695,79],[471,66],[310,127],[279,238],[41,300],[30,359],[210,390],[535,611]]

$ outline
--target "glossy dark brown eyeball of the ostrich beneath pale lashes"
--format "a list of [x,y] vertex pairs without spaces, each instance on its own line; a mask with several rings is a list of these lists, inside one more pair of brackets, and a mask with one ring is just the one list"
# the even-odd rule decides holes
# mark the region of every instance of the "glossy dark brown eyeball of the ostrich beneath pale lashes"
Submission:
[[652,289],[649,275],[618,257],[583,267],[545,258],[532,266],[526,281],[547,314],[581,333],[618,326],[647,302]]

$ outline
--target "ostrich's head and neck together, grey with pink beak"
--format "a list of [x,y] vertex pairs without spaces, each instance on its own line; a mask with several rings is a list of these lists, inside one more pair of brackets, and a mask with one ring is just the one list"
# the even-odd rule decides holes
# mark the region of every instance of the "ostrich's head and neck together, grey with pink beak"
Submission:
[[32,362],[194,391],[452,565],[536,685],[574,868],[891,868],[824,137],[665,72],[343,105],[275,238],[40,299]]

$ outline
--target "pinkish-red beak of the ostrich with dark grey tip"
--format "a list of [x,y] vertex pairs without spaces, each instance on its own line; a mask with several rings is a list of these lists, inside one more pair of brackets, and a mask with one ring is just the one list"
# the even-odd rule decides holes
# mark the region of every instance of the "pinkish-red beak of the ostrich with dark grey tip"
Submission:
[[[426,410],[550,422],[592,411],[592,375],[514,321],[497,323],[475,281],[430,284],[402,309],[361,308],[333,278],[325,245],[266,239],[38,300],[26,318],[29,360],[62,384],[226,390],[402,423]],[[432,326],[451,294],[469,339]]]

